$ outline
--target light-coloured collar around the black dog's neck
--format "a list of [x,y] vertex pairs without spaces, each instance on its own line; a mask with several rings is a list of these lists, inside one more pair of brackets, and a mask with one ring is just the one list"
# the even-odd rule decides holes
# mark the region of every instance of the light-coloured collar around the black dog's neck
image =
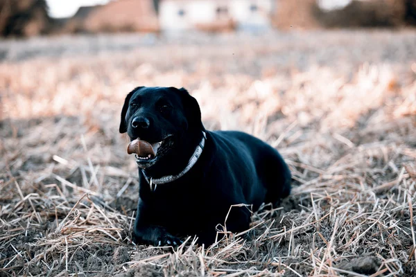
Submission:
[[155,191],[157,185],[166,184],[166,183],[170,183],[172,181],[175,181],[175,180],[179,179],[180,177],[182,177],[183,175],[185,175],[185,173],[187,173],[189,170],[191,170],[191,168],[196,164],[196,162],[200,158],[200,156],[202,154],[202,150],[204,150],[206,139],[207,139],[207,134],[205,134],[205,132],[202,131],[202,139],[201,139],[200,143],[196,146],[195,151],[193,152],[193,154],[191,156],[191,159],[189,159],[188,164],[184,168],[184,170],[182,170],[177,175],[168,175],[168,176],[164,176],[164,177],[161,177],[161,178],[152,178],[152,177],[149,178],[149,177],[146,176],[144,171],[141,170],[141,173],[143,173],[144,178],[146,179],[146,181],[150,185],[150,190]]

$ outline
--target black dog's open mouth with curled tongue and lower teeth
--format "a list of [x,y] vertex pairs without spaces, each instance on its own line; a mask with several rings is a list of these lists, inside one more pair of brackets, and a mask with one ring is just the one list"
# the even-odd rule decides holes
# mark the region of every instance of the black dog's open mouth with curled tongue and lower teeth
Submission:
[[168,137],[156,143],[149,143],[148,141],[137,138],[130,142],[127,147],[127,153],[136,154],[137,163],[154,161],[157,153],[163,150],[164,143]]

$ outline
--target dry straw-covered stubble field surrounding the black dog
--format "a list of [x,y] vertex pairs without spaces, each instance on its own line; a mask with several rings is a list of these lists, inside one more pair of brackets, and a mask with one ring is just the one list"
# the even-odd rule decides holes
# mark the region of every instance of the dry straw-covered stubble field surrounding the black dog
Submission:
[[[415,30],[0,42],[0,276],[414,276]],[[249,237],[130,242],[133,87],[186,87],[293,173]],[[189,218],[191,221],[192,218]]]

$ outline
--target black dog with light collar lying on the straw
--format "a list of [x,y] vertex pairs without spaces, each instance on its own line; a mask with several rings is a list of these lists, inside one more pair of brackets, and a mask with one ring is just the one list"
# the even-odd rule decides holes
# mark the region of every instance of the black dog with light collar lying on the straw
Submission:
[[177,236],[197,235],[211,244],[218,224],[249,229],[249,209],[231,205],[257,211],[291,192],[291,172],[277,150],[243,132],[206,131],[186,89],[137,87],[125,98],[120,132],[142,146],[136,242],[175,246]]

